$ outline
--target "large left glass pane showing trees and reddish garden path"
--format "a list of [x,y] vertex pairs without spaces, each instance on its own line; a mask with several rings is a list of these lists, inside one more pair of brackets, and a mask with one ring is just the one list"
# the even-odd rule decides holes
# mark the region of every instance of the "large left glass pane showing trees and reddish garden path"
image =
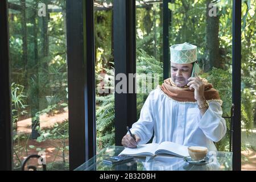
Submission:
[[39,152],[48,170],[68,170],[65,0],[8,2],[14,170]]

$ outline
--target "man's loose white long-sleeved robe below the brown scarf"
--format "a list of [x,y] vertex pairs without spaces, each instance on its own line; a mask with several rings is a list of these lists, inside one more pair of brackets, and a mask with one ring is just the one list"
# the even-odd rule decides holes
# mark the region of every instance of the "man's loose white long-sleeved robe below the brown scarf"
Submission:
[[209,101],[209,108],[203,115],[196,102],[172,100],[159,87],[153,90],[141,110],[140,118],[131,128],[147,143],[154,131],[152,143],[171,141],[185,146],[204,146],[216,151],[213,142],[221,140],[226,133],[226,122],[221,117],[218,101]]

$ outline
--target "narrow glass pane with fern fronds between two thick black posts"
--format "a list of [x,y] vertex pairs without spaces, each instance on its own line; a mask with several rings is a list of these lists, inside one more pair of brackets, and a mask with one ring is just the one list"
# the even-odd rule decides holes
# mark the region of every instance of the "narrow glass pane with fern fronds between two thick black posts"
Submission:
[[94,1],[97,152],[115,143],[113,1]]

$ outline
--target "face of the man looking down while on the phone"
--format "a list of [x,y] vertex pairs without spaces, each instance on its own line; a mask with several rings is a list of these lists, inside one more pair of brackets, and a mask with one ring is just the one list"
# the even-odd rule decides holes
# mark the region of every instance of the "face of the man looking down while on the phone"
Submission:
[[193,64],[171,63],[171,77],[174,83],[181,87],[188,84],[188,78],[191,77]]

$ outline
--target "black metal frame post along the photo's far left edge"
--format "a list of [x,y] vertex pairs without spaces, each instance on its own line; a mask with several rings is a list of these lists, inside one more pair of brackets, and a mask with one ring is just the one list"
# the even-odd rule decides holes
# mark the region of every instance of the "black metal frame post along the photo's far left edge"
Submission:
[[13,169],[7,0],[0,1],[0,171]]

